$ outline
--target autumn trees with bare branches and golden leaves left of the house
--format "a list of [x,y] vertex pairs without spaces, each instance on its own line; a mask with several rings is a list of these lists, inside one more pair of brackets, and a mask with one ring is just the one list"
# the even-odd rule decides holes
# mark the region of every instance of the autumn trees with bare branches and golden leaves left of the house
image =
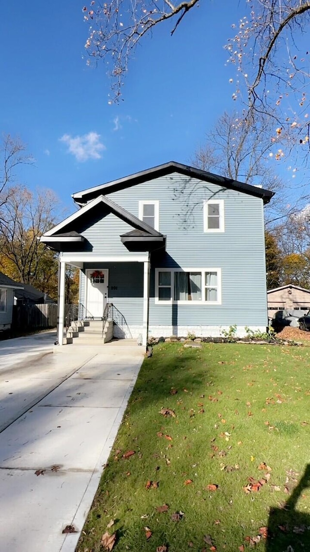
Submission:
[[[39,237],[60,218],[52,190],[30,191],[17,184],[15,169],[31,163],[19,139],[5,136],[0,167],[0,270],[18,283],[31,284],[57,301],[58,255]],[[67,270],[66,300],[78,298],[77,270]]]

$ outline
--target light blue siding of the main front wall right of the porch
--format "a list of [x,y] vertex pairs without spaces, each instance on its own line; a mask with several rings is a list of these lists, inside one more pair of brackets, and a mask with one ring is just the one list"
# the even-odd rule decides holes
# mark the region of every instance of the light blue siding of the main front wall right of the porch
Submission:
[[[175,199],[175,189],[184,189]],[[190,190],[194,192],[190,194]],[[167,235],[167,256],[152,263],[150,323],[178,325],[266,326],[266,269],[263,201],[235,190],[222,189],[178,173],[109,198],[138,216],[139,200],[159,200],[159,231]],[[203,203],[223,199],[225,232],[204,233]],[[186,208],[185,204],[189,207]],[[184,214],[191,211],[188,221]],[[222,305],[154,304],[154,268],[221,268]],[[173,311],[173,312],[172,312]],[[173,324],[175,325],[175,324]]]

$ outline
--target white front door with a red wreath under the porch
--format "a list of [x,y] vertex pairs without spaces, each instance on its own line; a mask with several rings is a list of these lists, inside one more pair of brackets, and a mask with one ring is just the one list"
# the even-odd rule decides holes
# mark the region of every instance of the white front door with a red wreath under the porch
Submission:
[[87,317],[100,318],[108,301],[109,270],[90,269],[86,271]]

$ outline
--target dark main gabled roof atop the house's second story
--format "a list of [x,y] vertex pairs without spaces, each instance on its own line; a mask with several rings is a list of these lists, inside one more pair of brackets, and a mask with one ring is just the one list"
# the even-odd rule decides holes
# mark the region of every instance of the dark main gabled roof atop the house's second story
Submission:
[[270,192],[270,190],[265,190],[264,188],[258,188],[250,184],[244,184],[242,182],[233,180],[232,178],[226,178],[223,176],[219,176],[218,174],[202,171],[201,169],[190,167],[189,165],[185,165],[183,163],[169,161],[169,163],[164,163],[162,165],[158,165],[157,167],[152,167],[150,169],[147,169],[146,171],[130,174],[130,176],[119,178],[117,180],[107,182],[106,184],[100,184],[99,186],[88,188],[87,190],[82,190],[81,192],[76,192],[72,194],[72,198],[77,204],[83,205],[87,203],[87,201],[90,201],[97,197],[98,194],[101,195],[107,193],[110,194],[111,192],[117,192],[118,190],[130,188],[131,186],[135,186],[136,184],[141,184],[142,182],[166,176],[167,174],[171,174],[174,172],[184,174],[188,177],[197,178],[204,182],[217,184],[223,188],[237,190],[238,192],[253,195],[254,197],[263,199],[264,203],[269,203],[270,199],[274,195],[274,192]]

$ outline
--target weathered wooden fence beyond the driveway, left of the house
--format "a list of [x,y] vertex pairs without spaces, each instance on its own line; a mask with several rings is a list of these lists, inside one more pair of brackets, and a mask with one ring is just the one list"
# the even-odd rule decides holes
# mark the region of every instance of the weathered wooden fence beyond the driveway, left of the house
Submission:
[[56,328],[57,305],[14,305],[12,330],[35,330],[36,328]]

